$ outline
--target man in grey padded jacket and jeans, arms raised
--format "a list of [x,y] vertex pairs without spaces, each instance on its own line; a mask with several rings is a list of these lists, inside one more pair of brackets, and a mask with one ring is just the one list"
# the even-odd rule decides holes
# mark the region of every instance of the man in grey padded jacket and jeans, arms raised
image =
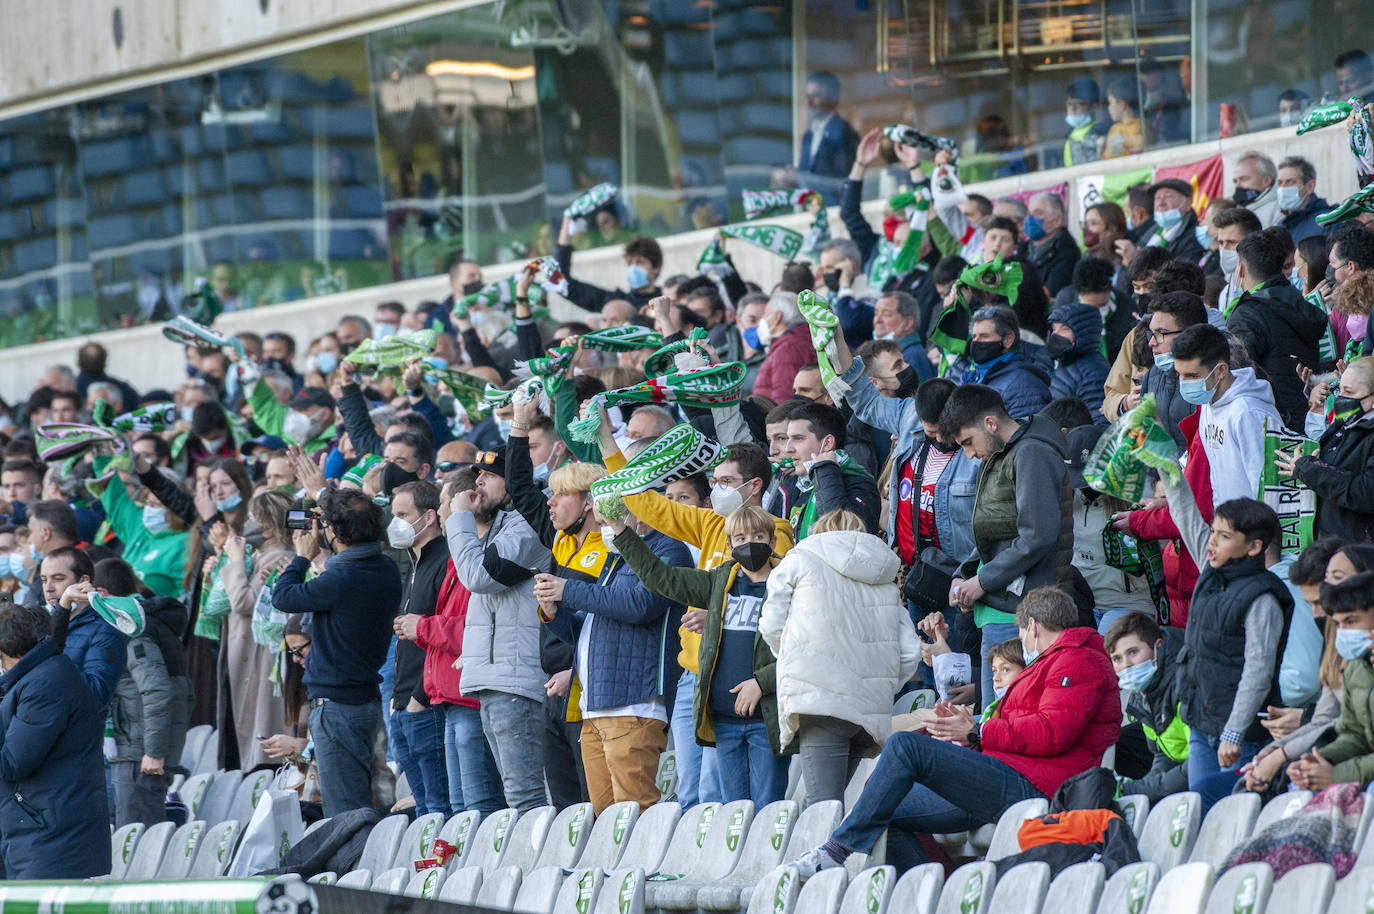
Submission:
[[478,465],[477,488],[458,492],[445,525],[458,580],[471,591],[463,628],[463,694],[482,702],[482,731],[502,774],[506,804],[545,805],[544,675],[539,661],[536,572],[552,555],[506,504],[506,456]]

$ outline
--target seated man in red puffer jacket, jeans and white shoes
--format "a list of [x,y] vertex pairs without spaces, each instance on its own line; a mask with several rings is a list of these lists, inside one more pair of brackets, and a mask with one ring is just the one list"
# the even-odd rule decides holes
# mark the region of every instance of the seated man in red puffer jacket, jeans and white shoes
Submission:
[[1068,778],[1102,763],[1121,733],[1121,697],[1102,636],[1076,627],[1073,599],[1037,587],[1017,606],[1030,661],[980,723],[965,706],[925,733],[894,733],[853,811],[823,845],[794,860],[801,878],[870,854],[888,833],[888,859],[901,869],[927,862],[915,834],[963,832],[996,822],[1007,807],[1050,797]]

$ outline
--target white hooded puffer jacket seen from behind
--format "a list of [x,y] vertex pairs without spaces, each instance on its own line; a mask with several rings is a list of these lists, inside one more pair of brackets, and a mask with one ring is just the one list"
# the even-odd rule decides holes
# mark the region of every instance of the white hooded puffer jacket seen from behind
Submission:
[[886,742],[892,700],[921,661],[897,568],[877,536],[833,531],[804,539],[768,576],[758,635],[778,657],[783,748],[800,715],[848,720]]

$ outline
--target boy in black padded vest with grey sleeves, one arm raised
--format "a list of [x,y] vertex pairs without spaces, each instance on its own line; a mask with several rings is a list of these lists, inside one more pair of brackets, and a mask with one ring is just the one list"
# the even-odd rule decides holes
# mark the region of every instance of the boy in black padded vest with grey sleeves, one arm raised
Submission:
[[1235,777],[1268,739],[1259,713],[1281,701],[1279,658],[1293,597],[1264,568],[1264,551],[1279,536],[1270,506],[1223,502],[1209,528],[1182,474],[1178,484],[1165,476],[1164,487],[1183,544],[1202,569],[1179,654],[1182,713],[1191,731],[1189,789],[1198,790],[1205,778]]

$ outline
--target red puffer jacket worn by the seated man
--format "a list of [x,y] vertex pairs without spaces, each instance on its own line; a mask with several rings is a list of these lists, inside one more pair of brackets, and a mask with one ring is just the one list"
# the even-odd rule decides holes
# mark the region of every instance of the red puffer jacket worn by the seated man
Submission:
[[1052,797],[1068,778],[1102,764],[1121,735],[1116,671],[1091,628],[1066,628],[1011,680],[982,724],[982,752]]

